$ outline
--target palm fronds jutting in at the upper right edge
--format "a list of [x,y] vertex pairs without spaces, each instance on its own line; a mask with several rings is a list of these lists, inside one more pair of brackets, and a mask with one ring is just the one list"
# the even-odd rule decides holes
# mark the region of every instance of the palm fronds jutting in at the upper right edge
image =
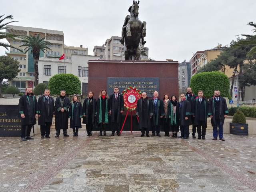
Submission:
[[[256,23],[250,22],[248,23],[248,25],[253,26],[255,29],[253,29],[252,31],[256,32]],[[251,45],[252,48],[247,53],[247,56],[250,57],[256,54],[256,35],[245,35],[245,34],[240,34],[240,35],[246,37],[246,39],[237,42],[236,44],[233,45],[233,47],[238,47],[241,45],[247,45],[247,46]]]

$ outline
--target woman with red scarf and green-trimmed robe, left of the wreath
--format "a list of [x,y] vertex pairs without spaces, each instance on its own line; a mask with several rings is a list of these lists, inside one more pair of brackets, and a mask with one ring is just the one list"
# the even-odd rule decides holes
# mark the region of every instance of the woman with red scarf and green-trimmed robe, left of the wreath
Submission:
[[105,89],[100,91],[100,96],[97,101],[97,121],[100,126],[100,136],[102,131],[106,136],[106,124],[108,124],[108,94]]

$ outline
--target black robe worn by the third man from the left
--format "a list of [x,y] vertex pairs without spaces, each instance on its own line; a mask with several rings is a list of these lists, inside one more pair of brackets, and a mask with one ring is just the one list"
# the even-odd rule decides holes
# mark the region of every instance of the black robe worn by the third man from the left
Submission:
[[[55,129],[67,129],[68,128],[68,107],[70,100],[67,97],[64,97],[63,106],[60,102],[60,97],[55,100]],[[64,112],[61,112],[60,109],[64,108]]]

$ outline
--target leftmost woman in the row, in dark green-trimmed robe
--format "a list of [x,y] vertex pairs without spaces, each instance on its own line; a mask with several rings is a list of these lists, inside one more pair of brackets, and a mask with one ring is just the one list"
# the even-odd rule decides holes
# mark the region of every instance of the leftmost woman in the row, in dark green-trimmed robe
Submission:
[[69,104],[69,118],[70,118],[70,128],[73,129],[73,136],[78,136],[78,129],[82,128],[81,118],[82,118],[82,104],[79,102],[77,95],[72,97],[72,101]]

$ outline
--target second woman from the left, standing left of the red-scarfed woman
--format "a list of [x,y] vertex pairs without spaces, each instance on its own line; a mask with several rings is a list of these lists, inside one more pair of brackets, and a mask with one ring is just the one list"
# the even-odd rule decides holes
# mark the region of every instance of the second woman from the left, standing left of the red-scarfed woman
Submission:
[[89,91],[83,104],[83,123],[86,124],[87,136],[92,136],[92,128],[97,111],[97,101],[93,98],[93,96],[94,93]]

